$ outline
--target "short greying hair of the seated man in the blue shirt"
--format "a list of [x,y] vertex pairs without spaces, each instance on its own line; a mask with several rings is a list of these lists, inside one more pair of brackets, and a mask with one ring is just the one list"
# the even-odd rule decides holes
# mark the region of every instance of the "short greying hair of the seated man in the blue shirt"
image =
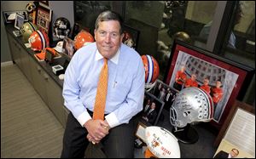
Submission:
[[99,22],[102,21],[108,21],[108,20],[117,20],[119,21],[119,25],[120,25],[120,34],[123,33],[123,19],[122,17],[118,14],[115,13],[113,11],[110,10],[106,10],[104,12],[102,12],[101,14],[99,14],[98,18],[96,19],[96,23],[95,23],[95,29],[97,30],[99,28]]

